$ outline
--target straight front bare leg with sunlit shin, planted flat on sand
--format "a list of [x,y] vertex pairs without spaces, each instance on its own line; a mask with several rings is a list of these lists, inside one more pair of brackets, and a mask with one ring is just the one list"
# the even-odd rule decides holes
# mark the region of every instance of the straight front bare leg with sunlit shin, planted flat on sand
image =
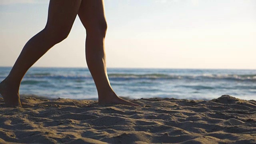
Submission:
[[83,0],[78,16],[86,28],[86,62],[96,84],[99,104],[139,106],[119,98],[110,86],[104,49],[107,24],[103,0]]

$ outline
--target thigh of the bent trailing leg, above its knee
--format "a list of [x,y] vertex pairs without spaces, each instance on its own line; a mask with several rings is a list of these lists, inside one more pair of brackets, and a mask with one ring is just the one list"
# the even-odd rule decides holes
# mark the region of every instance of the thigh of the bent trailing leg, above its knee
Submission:
[[46,29],[70,30],[81,0],[50,0]]

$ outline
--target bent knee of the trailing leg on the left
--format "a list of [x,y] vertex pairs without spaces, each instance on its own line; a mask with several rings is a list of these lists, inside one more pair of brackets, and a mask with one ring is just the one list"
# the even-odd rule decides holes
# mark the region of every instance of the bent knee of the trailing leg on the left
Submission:
[[50,40],[54,44],[58,44],[68,37],[71,28],[61,28],[61,27],[45,27],[44,30],[46,34],[50,37]]

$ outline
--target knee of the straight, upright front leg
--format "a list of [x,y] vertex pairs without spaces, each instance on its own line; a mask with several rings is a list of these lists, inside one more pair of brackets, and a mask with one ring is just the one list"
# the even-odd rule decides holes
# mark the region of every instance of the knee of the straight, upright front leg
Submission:
[[90,24],[86,27],[87,34],[94,34],[96,36],[106,36],[108,24],[106,20],[102,20],[101,22]]

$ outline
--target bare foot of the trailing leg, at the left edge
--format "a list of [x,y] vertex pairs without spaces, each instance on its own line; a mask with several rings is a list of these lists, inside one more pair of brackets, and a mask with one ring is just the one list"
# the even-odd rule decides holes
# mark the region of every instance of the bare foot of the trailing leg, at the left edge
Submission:
[[18,90],[14,90],[13,86],[2,81],[0,83],[0,94],[4,98],[6,107],[22,107],[20,103],[20,95]]

